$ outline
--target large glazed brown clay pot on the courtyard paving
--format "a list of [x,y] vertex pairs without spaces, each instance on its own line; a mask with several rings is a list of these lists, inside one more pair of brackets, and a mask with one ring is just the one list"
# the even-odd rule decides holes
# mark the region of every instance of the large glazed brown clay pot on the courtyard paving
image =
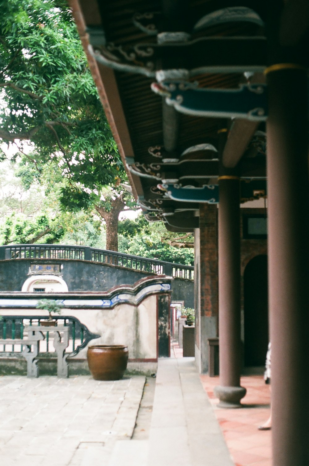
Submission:
[[128,348],[124,345],[94,345],[87,350],[89,370],[95,380],[121,379],[128,357]]

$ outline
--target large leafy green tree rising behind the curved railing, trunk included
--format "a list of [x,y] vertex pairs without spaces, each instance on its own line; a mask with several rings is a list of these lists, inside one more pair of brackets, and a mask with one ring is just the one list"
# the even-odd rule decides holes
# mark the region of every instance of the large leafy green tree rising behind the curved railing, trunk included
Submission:
[[60,172],[62,208],[95,208],[106,222],[106,247],[117,250],[118,215],[132,199],[120,187],[124,167],[70,10],[64,0],[10,0],[1,8],[0,139],[18,147],[26,187],[42,182],[46,166]]

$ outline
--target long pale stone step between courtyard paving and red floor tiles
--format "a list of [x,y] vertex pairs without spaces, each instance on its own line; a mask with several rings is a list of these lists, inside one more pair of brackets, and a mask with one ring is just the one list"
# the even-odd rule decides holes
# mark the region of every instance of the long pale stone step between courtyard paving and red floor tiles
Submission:
[[147,466],[234,466],[193,358],[159,359]]

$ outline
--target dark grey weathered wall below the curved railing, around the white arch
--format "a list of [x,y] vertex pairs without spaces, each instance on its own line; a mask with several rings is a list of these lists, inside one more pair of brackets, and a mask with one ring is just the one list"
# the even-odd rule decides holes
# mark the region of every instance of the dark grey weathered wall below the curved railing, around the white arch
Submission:
[[[29,277],[30,264],[42,262],[62,266],[61,276],[69,291],[108,291],[118,285],[133,285],[141,278],[151,275],[149,272],[85,260],[1,260],[0,291],[21,291],[23,283]],[[193,281],[172,280],[172,301],[185,301],[185,307],[193,308]]]

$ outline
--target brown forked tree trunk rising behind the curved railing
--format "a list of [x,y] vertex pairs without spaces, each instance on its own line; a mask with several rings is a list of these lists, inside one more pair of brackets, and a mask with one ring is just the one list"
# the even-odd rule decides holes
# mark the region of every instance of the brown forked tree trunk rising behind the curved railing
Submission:
[[107,212],[103,206],[95,206],[106,223],[106,249],[109,251],[118,251],[118,217],[124,210],[124,201],[121,198],[112,199],[110,212]]

